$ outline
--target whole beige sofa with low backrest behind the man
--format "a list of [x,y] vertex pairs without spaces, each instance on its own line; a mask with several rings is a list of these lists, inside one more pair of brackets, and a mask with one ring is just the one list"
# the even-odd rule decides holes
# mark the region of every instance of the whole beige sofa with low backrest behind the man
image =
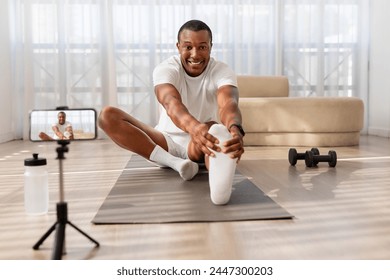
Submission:
[[363,128],[356,97],[289,97],[284,76],[238,76],[246,146],[352,146]]

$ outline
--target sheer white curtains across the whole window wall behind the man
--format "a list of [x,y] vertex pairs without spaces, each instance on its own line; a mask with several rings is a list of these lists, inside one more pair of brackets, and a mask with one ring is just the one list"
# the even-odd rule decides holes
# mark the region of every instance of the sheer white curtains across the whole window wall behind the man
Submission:
[[368,0],[10,0],[16,135],[28,112],[118,106],[151,125],[156,64],[189,19],[237,74],[286,75],[292,96],[367,89]]

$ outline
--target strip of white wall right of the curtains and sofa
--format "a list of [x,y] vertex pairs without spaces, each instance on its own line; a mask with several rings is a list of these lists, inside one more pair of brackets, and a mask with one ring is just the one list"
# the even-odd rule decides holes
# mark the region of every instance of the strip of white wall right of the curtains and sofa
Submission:
[[368,133],[390,137],[390,1],[371,1]]

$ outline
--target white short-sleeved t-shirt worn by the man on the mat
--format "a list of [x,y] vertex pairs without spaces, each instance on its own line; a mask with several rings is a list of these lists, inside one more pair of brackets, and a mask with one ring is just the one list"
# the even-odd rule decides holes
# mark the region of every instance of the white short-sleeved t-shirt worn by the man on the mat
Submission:
[[[203,73],[197,77],[189,76],[179,56],[172,56],[159,64],[153,71],[154,86],[172,84],[180,93],[183,104],[198,121],[220,122],[218,116],[217,90],[225,85],[237,87],[235,73],[223,62],[210,58]],[[188,136],[178,128],[161,106],[160,120],[156,129],[175,137]]]

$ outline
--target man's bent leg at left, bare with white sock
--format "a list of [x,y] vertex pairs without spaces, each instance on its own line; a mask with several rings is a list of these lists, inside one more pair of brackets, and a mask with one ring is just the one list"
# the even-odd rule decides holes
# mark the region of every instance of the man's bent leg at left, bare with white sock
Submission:
[[196,163],[168,153],[167,141],[160,131],[118,108],[105,107],[99,116],[99,127],[120,147],[173,168],[184,180],[198,173]]

